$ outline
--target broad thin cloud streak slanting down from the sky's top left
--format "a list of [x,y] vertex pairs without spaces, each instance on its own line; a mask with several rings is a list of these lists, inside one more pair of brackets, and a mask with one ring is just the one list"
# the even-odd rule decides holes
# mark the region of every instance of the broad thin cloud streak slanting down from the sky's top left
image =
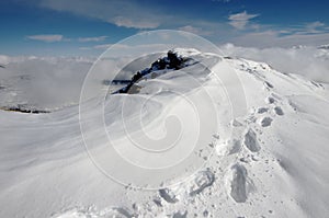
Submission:
[[41,0],[39,5],[134,28],[155,28],[168,18],[158,9],[133,0]]

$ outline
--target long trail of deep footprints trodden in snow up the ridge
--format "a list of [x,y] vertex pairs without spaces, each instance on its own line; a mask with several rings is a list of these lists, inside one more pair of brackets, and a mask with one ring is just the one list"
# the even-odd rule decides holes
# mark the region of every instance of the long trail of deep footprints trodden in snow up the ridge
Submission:
[[[253,72],[252,70],[249,71],[250,73],[257,72]],[[246,117],[234,119],[230,124],[232,127],[232,137],[228,141],[220,141],[220,136],[217,134],[213,136],[215,140],[211,144],[211,148],[215,149],[219,157],[236,157],[229,159],[232,161],[228,163],[226,169],[222,165],[223,162],[217,160],[216,163],[219,170],[216,168],[207,168],[197,172],[188,183],[183,183],[182,187],[166,187],[158,190],[157,194],[152,196],[151,202],[140,205],[143,209],[134,203],[132,209],[121,207],[112,208],[111,215],[118,217],[149,217],[149,213],[157,214],[160,211],[161,214],[169,209],[168,211],[170,211],[170,214],[167,214],[168,217],[193,217],[193,213],[190,210],[180,210],[178,209],[179,207],[171,207],[178,204],[193,204],[195,210],[200,205],[203,205],[206,208],[203,210],[202,215],[194,214],[194,217],[214,217],[211,210],[220,209],[220,207],[216,207],[214,204],[211,206],[206,205],[206,199],[200,205],[195,204],[195,202],[204,199],[202,197],[209,197],[212,192],[218,191],[216,188],[213,190],[213,187],[223,185],[225,181],[220,181],[220,179],[227,180],[227,194],[232,199],[232,203],[248,203],[248,195],[257,188],[252,181],[254,172],[248,172],[248,165],[251,162],[260,162],[264,156],[264,149],[262,150],[263,141],[261,139],[262,130],[260,129],[265,130],[266,128],[271,128],[277,117],[284,116],[284,111],[280,106],[280,101],[282,99],[272,92],[274,85],[265,81],[265,78],[261,77],[261,74],[256,76],[263,81],[263,87],[269,93],[268,97],[264,100],[265,105],[256,108],[254,112]],[[290,102],[288,104],[296,111],[296,106],[292,105],[293,103]],[[264,163],[269,163],[269,157],[264,158]],[[269,168],[265,167],[264,170],[268,171]],[[227,176],[223,177],[220,176],[220,173],[224,173]],[[214,185],[216,182],[218,183]],[[266,197],[264,194],[262,194],[262,196]],[[222,206],[220,202],[219,206]],[[226,211],[229,210],[229,208],[226,209]],[[271,209],[269,213],[272,214],[273,210]]]

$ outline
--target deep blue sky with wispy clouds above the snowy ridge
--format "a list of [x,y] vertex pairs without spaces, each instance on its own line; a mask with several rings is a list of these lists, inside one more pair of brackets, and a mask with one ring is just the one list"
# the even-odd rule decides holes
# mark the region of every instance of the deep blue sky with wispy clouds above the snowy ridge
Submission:
[[0,54],[97,56],[150,30],[182,30],[215,44],[329,44],[328,0],[3,0]]

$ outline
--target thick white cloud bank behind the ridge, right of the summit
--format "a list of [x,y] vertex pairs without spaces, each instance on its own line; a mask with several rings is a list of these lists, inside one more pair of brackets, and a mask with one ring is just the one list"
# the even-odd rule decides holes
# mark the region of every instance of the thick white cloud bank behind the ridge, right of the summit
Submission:
[[227,56],[266,62],[281,72],[302,74],[310,80],[329,83],[328,49],[315,46],[254,48],[226,44],[220,46],[220,50]]

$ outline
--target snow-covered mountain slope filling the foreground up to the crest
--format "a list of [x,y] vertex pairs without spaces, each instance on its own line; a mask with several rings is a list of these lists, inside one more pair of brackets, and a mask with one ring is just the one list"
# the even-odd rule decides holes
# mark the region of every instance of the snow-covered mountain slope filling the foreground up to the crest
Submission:
[[[169,172],[121,163],[92,106],[84,138],[78,106],[0,111],[0,217],[328,217],[329,87],[262,62],[178,51],[198,62],[140,80],[138,93],[111,95],[104,110],[120,157]],[[161,150],[177,138],[159,156],[133,144]]]

